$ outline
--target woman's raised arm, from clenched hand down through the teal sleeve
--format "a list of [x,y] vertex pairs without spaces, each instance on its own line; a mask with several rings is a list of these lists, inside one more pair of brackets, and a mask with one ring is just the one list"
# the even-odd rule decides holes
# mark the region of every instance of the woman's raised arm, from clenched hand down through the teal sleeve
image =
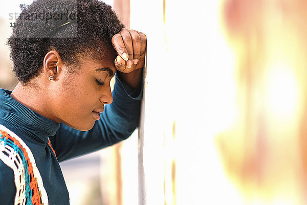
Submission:
[[57,134],[50,137],[59,161],[114,145],[129,137],[138,126],[146,36],[122,29],[113,36],[112,44],[118,54],[114,60],[117,74],[113,103],[105,105],[100,120],[89,131],[61,124]]

